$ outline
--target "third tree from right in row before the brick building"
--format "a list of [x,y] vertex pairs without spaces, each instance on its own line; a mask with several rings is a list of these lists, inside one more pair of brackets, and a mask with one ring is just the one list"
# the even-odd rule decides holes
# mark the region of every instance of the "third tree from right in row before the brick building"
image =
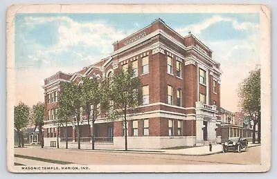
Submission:
[[[82,86],[75,83],[62,82],[60,84],[60,96],[58,105],[60,111],[64,110],[64,118],[73,117],[77,122],[78,149],[81,149],[80,144],[80,115],[82,107]],[[67,118],[68,117],[68,118]],[[66,123],[67,124],[67,123]],[[66,126],[67,130],[67,126]]]

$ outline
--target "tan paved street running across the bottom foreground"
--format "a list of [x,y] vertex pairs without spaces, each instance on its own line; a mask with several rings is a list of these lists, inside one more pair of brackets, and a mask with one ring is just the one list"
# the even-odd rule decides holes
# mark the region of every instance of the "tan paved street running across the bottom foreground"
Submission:
[[[242,153],[217,153],[210,156],[179,156],[162,153],[79,151],[75,149],[15,149],[15,154],[33,156],[75,164],[259,164],[260,146],[251,147]],[[15,158],[15,162],[19,158]],[[26,160],[25,160],[26,161]],[[18,161],[19,162],[19,161]],[[27,161],[26,161],[27,162]],[[20,163],[20,162],[19,162]],[[41,164],[28,160],[27,164]]]

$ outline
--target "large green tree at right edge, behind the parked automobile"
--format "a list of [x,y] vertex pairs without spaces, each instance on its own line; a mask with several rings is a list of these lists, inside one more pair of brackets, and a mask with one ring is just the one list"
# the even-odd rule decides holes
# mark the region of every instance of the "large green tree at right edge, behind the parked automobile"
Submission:
[[253,120],[253,138],[256,142],[256,124],[258,124],[258,143],[260,144],[260,67],[252,70],[249,77],[239,87],[240,107]]

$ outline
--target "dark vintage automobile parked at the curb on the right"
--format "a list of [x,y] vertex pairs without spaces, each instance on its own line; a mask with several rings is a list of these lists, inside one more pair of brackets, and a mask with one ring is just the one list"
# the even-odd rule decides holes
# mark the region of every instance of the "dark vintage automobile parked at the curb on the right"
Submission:
[[247,138],[229,138],[228,142],[222,143],[223,152],[238,151],[240,153],[242,150],[247,151],[247,146]]

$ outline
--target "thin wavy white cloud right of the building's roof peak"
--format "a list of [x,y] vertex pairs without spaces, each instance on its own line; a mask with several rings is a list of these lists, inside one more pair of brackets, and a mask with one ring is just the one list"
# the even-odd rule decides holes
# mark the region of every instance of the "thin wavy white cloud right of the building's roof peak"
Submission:
[[206,19],[205,21],[202,21],[202,23],[191,24],[190,26],[186,26],[184,28],[176,28],[175,30],[177,30],[177,32],[179,32],[182,35],[187,35],[189,31],[192,32],[194,35],[199,35],[206,28],[209,28],[213,24],[222,21],[230,22],[235,30],[249,30],[251,28],[258,28],[258,25],[254,23],[239,23],[236,19],[215,15],[211,18]]

